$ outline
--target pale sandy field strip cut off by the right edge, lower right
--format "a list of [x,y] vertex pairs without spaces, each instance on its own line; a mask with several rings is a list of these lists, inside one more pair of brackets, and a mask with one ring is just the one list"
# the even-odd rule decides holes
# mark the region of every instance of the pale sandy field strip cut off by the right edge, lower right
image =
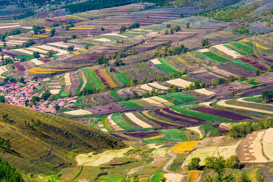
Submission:
[[265,131],[262,137],[263,153],[273,161],[273,140],[272,140],[273,128],[269,128]]

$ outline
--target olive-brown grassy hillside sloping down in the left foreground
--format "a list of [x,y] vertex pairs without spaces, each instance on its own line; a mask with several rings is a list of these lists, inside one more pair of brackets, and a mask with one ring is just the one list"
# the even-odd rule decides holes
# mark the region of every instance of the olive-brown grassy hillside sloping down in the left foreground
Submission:
[[0,108],[1,116],[8,114],[0,119],[0,138],[11,143],[10,151],[3,148],[0,157],[20,172],[50,173],[75,165],[73,154],[68,155],[72,150],[125,147],[112,136],[75,121],[2,103]]

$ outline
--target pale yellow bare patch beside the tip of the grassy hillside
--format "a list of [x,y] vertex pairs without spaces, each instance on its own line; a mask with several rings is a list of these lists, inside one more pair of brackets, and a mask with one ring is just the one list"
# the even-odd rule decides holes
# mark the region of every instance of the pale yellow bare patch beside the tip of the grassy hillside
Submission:
[[100,166],[107,162],[110,162],[112,159],[125,157],[124,154],[132,150],[133,147],[120,150],[108,150],[102,154],[93,155],[94,152],[88,154],[79,154],[76,157],[78,165],[82,166]]

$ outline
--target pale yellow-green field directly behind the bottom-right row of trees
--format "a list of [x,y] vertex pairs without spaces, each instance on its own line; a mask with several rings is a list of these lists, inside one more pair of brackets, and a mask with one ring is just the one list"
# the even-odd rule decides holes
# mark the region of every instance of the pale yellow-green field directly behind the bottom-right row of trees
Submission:
[[239,141],[235,145],[231,146],[220,146],[220,147],[204,147],[197,149],[193,153],[191,153],[187,159],[185,160],[184,165],[189,165],[191,162],[192,158],[199,157],[200,158],[200,165],[205,165],[205,158],[206,157],[211,157],[211,156],[218,156],[218,153],[220,156],[223,156],[224,159],[227,159],[231,157],[232,155],[236,155],[236,149],[238,145],[240,144],[241,141]]

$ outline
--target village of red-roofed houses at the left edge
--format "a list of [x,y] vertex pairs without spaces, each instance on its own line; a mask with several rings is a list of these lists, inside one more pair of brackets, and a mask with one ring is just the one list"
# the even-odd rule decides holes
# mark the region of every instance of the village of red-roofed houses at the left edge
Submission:
[[37,87],[38,85],[39,81],[30,81],[26,84],[19,82],[14,84],[6,84],[4,86],[0,86],[0,93],[5,96],[5,101],[7,104],[45,113],[56,113],[56,104],[59,106],[59,108],[68,108],[76,103],[77,96],[74,96],[72,98],[58,99],[57,101],[53,102],[40,100],[36,106],[26,106],[26,100],[30,101],[33,96],[42,96],[43,92],[34,93],[33,88]]

